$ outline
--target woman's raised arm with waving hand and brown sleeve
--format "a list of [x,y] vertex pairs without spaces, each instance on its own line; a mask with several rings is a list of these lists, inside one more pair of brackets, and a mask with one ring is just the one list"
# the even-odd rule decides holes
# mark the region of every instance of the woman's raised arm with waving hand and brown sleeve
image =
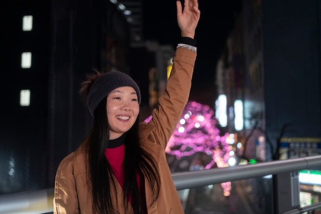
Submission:
[[156,127],[154,134],[157,144],[162,145],[164,149],[189,99],[196,59],[194,35],[200,15],[197,0],[185,0],[184,8],[177,1],[176,7],[182,41],[176,48],[170,77],[163,95],[158,99],[158,106],[154,109],[151,120],[151,124]]

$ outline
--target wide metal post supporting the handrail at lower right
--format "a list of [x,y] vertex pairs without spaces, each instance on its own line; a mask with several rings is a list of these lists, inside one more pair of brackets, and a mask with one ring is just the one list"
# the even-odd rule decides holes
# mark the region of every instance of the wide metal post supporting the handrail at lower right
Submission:
[[298,175],[298,171],[273,175],[275,213],[300,207]]

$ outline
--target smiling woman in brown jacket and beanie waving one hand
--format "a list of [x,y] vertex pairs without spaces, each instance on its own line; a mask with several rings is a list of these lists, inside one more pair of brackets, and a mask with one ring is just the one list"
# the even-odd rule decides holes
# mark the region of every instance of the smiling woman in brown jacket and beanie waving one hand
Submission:
[[83,82],[93,126],[58,166],[54,213],[184,213],[165,148],[189,98],[200,11],[197,0],[176,7],[182,42],[150,122],[138,123],[141,94],[127,74],[97,71]]

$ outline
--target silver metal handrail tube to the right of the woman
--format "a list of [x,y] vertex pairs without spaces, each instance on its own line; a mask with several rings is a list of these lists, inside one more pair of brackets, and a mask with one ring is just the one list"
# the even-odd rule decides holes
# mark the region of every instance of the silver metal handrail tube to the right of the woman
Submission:
[[224,168],[197,170],[192,172],[173,173],[176,189],[219,184],[249,178],[293,172],[311,167],[321,166],[321,155],[287,160],[276,160],[256,164],[237,165]]

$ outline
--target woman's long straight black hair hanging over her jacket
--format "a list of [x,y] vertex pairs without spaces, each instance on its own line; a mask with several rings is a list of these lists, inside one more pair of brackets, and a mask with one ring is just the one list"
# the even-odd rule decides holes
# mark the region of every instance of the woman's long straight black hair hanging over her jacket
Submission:
[[[105,151],[109,144],[109,125],[106,112],[107,97],[105,97],[94,111],[94,120],[90,132],[86,138],[86,153],[88,160],[88,184],[91,184],[93,210],[101,214],[118,213],[113,207],[112,196],[116,196],[115,182],[112,170],[105,157]],[[143,213],[146,199],[138,188],[136,175],[143,175],[152,193],[151,206],[157,200],[160,190],[160,178],[154,158],[145,151],[138,137],[139,114],[131,129],[126,133],[124,140],[124,186],[123,203],[128,213],[128,202],[131,198],[133,214]],[[144,180],[144,178],[141,178]],[[141,187],[144,188],[144,187]]]

